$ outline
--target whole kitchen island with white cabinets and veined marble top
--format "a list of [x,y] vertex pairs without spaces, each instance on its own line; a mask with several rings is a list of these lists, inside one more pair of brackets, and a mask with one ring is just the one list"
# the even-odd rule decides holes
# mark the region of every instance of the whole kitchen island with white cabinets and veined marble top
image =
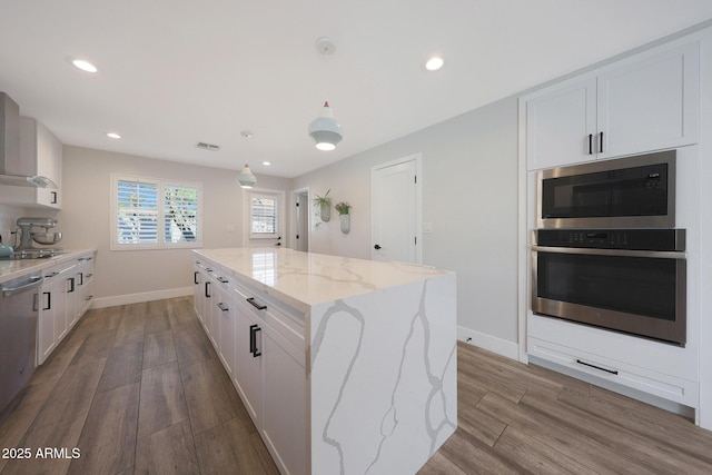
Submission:
[[457,427],[455,274],[194,250],[195,308],[283,474],[414,474]]

